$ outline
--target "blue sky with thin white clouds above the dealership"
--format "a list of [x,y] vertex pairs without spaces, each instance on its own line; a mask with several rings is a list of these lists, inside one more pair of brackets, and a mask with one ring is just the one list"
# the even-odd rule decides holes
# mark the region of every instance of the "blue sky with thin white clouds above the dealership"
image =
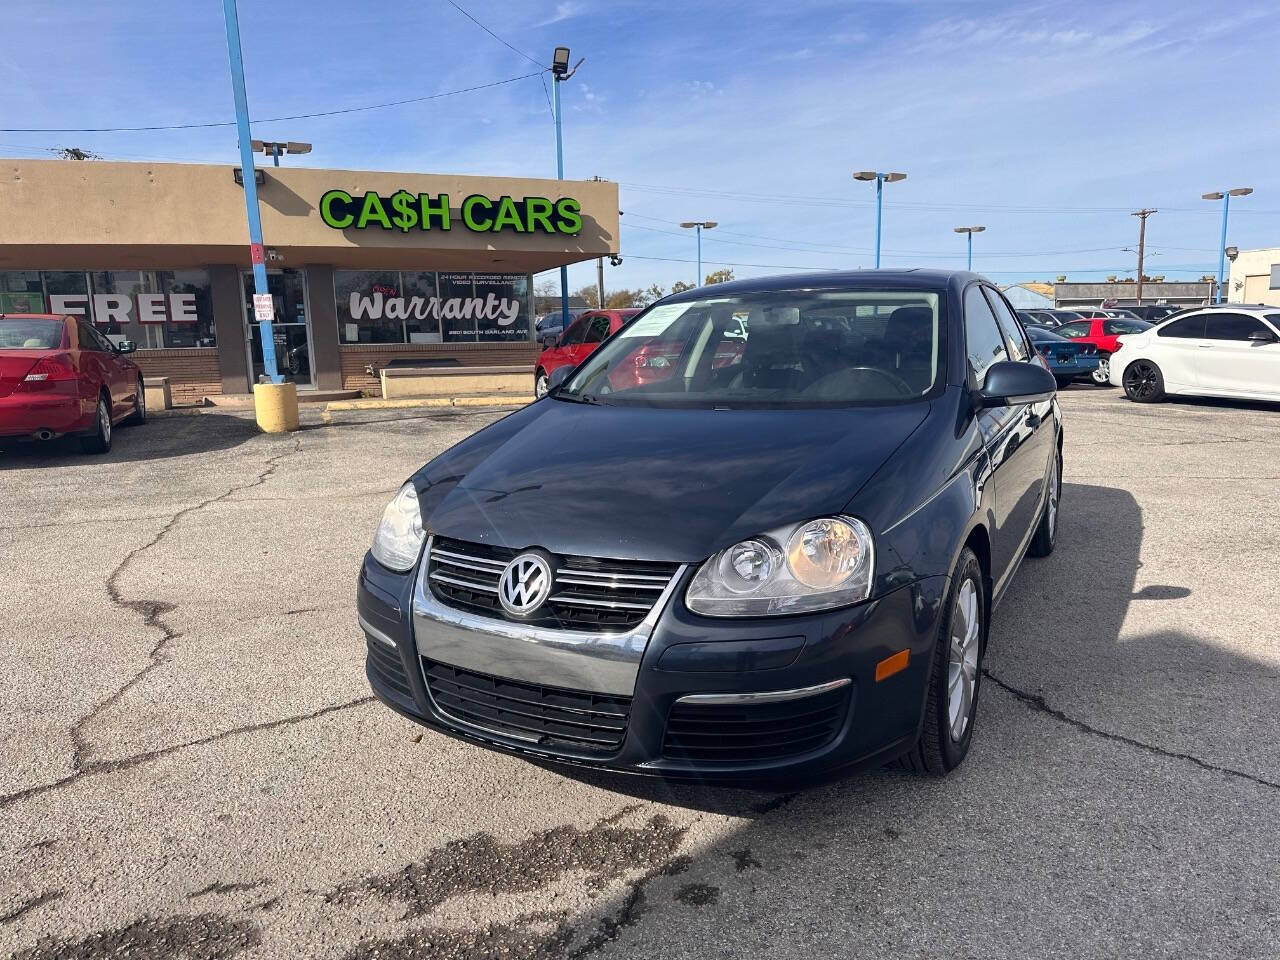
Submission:
[[[566,175],[618,180],[611,287],[691,280],[681,220],[717,220],[707,269],[740,276],[872,264],[963,266],[1000,282],[1216,270],[1219,206],[1251,186],[1229,243],[1280,246],[1280,18],[1263,3],[667,3],[460,0],[513,46],[586,63],[564,87]],[[428,96],[535,68],[445,0],[241,0],[250,109],[280,116]],[[8,0],[0,127],[233,119],[218,0]],[[261,124],[294,161],[554,175],[544,86]],[[108,159],[234,161],[229,128],[0,133],[0,155],[76,145]],[[44,154],[47,155],[47,154]],[[270,238],[268,238],[270,239]],[[1092,271],[1092,273],[1089,273]],[[571,269],[594,280],[594,262]]]

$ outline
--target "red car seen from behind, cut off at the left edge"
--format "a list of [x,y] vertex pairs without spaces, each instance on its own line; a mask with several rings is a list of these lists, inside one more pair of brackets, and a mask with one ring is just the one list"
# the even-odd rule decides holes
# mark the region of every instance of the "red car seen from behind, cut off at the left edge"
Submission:
[[111,449],[111,428],[146,420],[142,371],[84,317],[0,314],[0,440],[76,434],[90,453]]

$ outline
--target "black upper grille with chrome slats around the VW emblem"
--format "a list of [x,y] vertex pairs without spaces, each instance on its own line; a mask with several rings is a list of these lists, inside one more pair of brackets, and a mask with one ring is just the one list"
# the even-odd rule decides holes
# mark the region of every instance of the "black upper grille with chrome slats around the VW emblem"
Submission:
[[554,557],[552,594],[532,617],[507,616],[498,580],[520,550],[434,538],[426,580],[444,604],[502,620],[562,630],[613,631],[639,625],[680,566],[596,557]]

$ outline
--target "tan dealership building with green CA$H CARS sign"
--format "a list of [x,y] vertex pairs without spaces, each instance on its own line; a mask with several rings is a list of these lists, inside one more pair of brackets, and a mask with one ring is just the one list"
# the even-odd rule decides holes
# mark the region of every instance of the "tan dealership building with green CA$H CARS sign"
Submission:
[[[0,312],[87,316],[178,402],[262,372],[238,168],[4,160]],[[532,275],[618,251],[617,184],[257,172],[274,342],[300,390],[393,361],[531,364]]]

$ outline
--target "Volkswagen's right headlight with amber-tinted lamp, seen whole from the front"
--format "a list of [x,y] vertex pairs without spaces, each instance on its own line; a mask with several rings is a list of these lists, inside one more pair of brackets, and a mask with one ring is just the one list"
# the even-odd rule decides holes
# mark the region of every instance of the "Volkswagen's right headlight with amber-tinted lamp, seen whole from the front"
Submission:
[[876,545],[852,517],[822,517],[736,543],[699,567],[685,604],[707,617],[769,617],[870,596]]

